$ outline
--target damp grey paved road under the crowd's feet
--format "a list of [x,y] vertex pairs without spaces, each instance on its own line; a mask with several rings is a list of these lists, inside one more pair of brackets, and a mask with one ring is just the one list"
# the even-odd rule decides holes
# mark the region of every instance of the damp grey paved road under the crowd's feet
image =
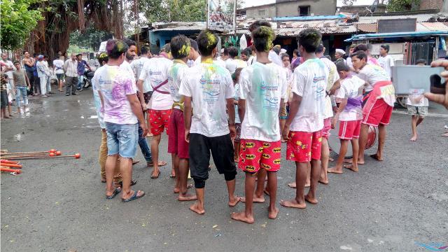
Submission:
[[[149,179],[141,163],[134,167],[134,188],[147,195],[127,204],[106,200],[91,91],[34,99],[29,118],[1,123],[1,148],[57,148],[82,159],[24,161],[23,174],[2,174],[1,251],[429,251],[421,244],[448,245],[448,139],[440,137],[447,111],[431,106],[435,115],[423,122],[416,143],[408,141],[410,119],[400,111],[388,127],[384,162],[367,158],[358,173],[330,174],[330,184],[318,187],[319,204],[279,207],[274,221],[267,204],[256,204],[255,223],[246,225],[230,219],[244,204],[227,206],[216,169],[207,181],[204,216],[176,200],[166,136],[161,156],[169,165],[160,179]],[[138,159],[144,160],[140,152]],[[294,196],[286,186],[293,176],[293,163],[282,161],[279,200]],[[242,172],[237,193],[244,193]]]

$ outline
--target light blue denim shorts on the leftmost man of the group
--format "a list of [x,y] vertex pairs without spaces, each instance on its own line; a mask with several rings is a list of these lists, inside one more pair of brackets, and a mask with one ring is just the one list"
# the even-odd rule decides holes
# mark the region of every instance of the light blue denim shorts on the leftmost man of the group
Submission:
[[122,158],[134,158],[137,152],[139,125],[119,125],[106,122],[107,155],[119,154]]

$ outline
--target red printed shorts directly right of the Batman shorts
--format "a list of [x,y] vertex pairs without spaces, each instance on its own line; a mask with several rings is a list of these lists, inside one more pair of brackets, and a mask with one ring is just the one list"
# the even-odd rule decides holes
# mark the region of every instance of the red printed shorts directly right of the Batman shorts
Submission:
[[321,159],[322,131],[289,132],[286,160],[309,162]]

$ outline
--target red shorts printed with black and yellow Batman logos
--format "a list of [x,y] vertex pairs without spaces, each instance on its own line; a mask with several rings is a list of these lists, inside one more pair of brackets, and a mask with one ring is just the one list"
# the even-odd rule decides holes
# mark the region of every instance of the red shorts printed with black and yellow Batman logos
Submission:
[[265,142],[241,139],[239,148],[239,169],[244,172],[278,172],[281,160],[281,141]]

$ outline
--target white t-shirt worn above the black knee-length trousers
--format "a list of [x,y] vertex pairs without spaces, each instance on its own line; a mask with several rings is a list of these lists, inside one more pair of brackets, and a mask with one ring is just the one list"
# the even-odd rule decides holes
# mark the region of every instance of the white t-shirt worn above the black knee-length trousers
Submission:
[[232,99],[235,90],[227,69],[215,62],[191,67],[181,80],[179,94],[193,99],[191,133],[206,137],[229,134],[226,99]]

